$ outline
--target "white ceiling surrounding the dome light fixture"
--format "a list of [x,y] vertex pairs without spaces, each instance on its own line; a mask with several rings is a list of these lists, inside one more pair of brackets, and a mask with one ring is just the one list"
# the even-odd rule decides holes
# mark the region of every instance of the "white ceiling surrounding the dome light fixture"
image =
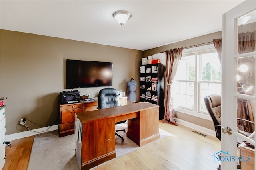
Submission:
[[[147,50],[220,31],[244,0],[0,1],[1,29]],[[131,12],[123,27],[112,17]]]

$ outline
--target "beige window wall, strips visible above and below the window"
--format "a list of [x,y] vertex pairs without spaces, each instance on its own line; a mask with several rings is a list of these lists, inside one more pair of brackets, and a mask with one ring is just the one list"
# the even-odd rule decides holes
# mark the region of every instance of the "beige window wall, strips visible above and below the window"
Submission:
[[[221,31],[147,50],[147,51],[143,52],[143,57],[148,57],[149,55],[153,55],[153,54],[160,53],[162,51],[166,51],[166,50],[170,50],[170,49],[181,48],[181,47],[190,47],[193,45],[208,43],[216,38],[221,38]],[[184,113],[180,113],[177,111],[175,114],[176,114],[176,117],[179,119],[182,119],[184,121],[188,121],[190,123],[194,123],[196,125],[214,130],[214,125],[213,125],[212,121],[209,121],[206,119],[201,119],[201,118],[194,117],[192,115],[187,115]]]

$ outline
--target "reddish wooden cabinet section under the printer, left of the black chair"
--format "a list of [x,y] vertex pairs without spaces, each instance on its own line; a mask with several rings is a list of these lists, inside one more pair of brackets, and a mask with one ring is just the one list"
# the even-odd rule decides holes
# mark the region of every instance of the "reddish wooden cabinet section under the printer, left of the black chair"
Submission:
[[89,103],[59,104],[60,124],[58,131],[60,137],[75,133],[75,114],[80,112],[97,110],[98,101]]

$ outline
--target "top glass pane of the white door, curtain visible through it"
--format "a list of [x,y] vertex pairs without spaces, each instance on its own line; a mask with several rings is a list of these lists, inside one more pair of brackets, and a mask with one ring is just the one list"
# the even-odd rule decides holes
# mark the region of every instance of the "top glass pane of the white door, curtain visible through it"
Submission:
[[238,54],[255,51],[255,10],[237,19]]

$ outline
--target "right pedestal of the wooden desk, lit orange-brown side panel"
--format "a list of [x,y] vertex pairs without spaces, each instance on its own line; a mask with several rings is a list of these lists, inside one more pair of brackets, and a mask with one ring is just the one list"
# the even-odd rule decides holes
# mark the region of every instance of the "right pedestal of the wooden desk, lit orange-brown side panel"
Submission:
[[139,117],[128,120],[127,137],[138,146],[146,145],[160,138],[158,107],[140,111]]

